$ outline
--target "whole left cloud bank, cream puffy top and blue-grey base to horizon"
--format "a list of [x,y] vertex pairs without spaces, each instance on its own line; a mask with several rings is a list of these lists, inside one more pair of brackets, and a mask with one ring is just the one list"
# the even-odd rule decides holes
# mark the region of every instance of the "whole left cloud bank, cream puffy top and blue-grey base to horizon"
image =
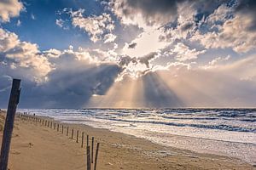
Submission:
[[[37,44],[21,42],[15,33],[0,29],[1,96],[9,96],[11,78],[22,79],[20,107],[80,108],[94,94],[103,95],[120,66],[96,57],[92,49],[40,51]],[[108,52],[102,52],[106,58]],[[6,106],[1,98],[1,107]]]

